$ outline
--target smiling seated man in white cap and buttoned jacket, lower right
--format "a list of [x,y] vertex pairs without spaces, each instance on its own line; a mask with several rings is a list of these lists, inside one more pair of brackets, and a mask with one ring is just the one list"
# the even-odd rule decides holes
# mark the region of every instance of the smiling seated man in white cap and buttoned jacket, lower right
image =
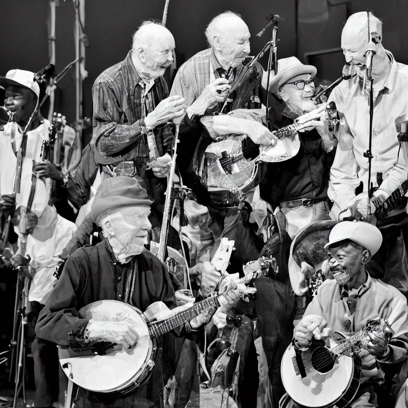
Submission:
[[[392,370],[398,370],[397,364],[407,356],[407,300],[394,287],[371,278],[365,269],[382,241],[380,230],[371,224],[351,221],[336,224],[325,245],[334,279],[323,282],[295,328],[294,345],[304,351],[313,339],[320,340],[331,330],[349,337],[370,320],[382,317],[388,322],[389,328],[380,333],[369,332],[361,340],[362,380],[351,404],[353,408],[390,404],[390,400],[382,399],[379,385],[383,383],[384,372],[387,376],[393,374]],[[302,404],[300,396],[292,398]],[[292,401],[286,407],[298,407],[296,403]]]

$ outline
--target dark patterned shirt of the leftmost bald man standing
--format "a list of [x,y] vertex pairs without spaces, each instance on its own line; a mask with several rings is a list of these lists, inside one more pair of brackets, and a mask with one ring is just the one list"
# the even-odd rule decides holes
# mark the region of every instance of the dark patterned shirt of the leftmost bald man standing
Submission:
[[[118,164],[133,160],[139,167],[149,161],[147,135],[140,121],[168,97],[163,77],[154,80],[144,95],[144,86],[129,51],[124,61],[108,68],[92,88],[94,102],[93,140],[102,153],[98,164]],[[173,133],[167,126],[154,129],[158,153],[171,149]]]

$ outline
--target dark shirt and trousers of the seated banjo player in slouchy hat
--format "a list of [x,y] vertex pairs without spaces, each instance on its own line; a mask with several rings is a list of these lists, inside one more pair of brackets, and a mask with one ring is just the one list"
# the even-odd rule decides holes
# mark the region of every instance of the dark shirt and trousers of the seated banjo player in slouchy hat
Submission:
[[[142,311],[157,301],[164,302],[169,308],[176,306],[167,268],[156,256],[145,249],[130,262],[121,265],[104,240],[94,247],[78,249],[67,259],[62,275],[38,318],[37,337],[64,347],[72,346],[69,333],[73,336],[83,333],[88,324],[88,320],[79,317],[78,310],[98,300],[123,301],[127,277],[133,265],[137,268],[132,297],[134,306]],[[116,400],[115,407],[162,406],[162,372],[159,358],[148,383],[138,388],[135,394]],[[78,402],[79,407],[113,407],[111,397],[91,391],[81,391]]]

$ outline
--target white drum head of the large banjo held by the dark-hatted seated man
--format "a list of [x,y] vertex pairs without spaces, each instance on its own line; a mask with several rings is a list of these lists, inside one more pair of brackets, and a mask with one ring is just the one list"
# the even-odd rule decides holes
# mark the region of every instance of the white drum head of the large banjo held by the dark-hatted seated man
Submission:
[[59,361],[68,377],[82,388],[94,392],[119,391],[135,381],[150,366],[153,340],[142,312],[123,302],[103,300],[79,310],[81,317],[98,321],[128,322],[137,328],[139,341],[131,349],[116,345],[99,356],[91,350],[59,349]]

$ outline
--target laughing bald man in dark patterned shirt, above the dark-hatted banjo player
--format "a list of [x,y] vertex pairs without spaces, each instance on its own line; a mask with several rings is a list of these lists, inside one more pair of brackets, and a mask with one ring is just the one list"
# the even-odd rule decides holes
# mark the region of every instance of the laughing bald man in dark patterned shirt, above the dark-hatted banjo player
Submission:
[[173,62],[175,41],[171,32],[144,22],[132,37],[124,61],[105,70],[95,81],[95,162],[106,177],[143,179],[153,199],[151,222],[161,226],[159,204],[164,201],[171,160],[173,132],[168,122],[185,113],[182,97],[168,98],[162,77]]

